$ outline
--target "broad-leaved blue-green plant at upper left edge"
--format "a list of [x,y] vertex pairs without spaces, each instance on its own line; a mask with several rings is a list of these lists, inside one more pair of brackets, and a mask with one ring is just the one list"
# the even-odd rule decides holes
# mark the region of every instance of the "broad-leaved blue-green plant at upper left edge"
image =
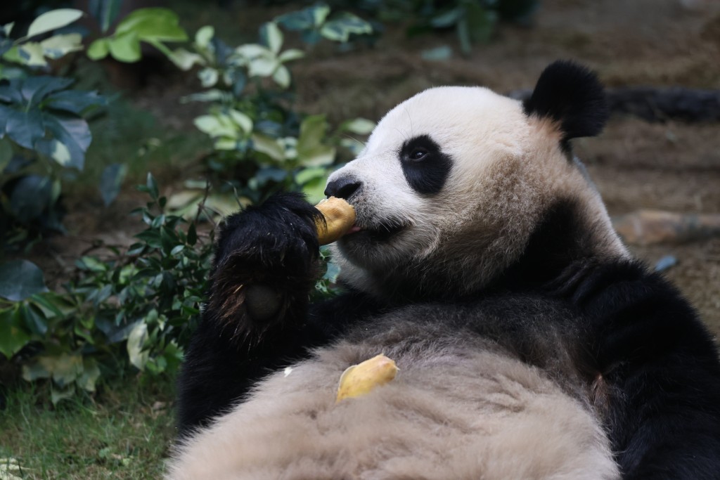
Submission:
[[48,60],[81,50],[81,35],[32,40],[81,15],[73,9],[46,12],[17,39],[10,37],[13,24],[0,28],[0,241],[5,245],[62,230],[63,173],[84,168],[92,140],[86,116],[105,99],[71,89],[71,78],[41,75]]

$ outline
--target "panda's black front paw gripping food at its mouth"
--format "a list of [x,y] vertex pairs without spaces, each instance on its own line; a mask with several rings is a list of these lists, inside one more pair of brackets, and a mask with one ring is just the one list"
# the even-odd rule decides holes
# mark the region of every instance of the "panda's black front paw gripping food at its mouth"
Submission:
[[242,338],[292,322],[318,276],[321,214],[301,194],[276,194],[220,230],[207,314]]

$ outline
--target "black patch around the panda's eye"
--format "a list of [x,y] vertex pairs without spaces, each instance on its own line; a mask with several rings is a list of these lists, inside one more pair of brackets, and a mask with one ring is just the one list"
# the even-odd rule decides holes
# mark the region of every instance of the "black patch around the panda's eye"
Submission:
[[405,140],[398,156],[405,180],[413,190],[423,195],[441,191],[452,168],[452,159],[430,135]]

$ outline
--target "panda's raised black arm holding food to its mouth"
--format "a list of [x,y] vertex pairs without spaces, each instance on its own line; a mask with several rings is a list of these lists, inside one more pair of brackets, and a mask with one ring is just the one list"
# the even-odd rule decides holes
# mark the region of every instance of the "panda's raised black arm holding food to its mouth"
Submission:
[[[317,209],[277,194],[234,214],[220,230],[210,291],[179,376],[182,434],[227,410],[255,381],[343,330],[357,312],[310,306],[318,278]],[[345,312],[340,316],[333,312]]]

